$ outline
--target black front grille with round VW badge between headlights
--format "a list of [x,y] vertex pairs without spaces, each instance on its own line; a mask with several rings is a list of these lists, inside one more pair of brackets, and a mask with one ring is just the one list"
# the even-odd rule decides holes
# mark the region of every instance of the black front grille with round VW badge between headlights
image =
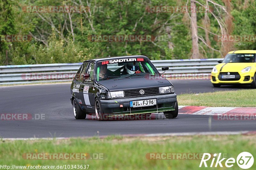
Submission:
[[[144,94],[140,94],[140,90],[144,90]],[[152,96],[156,94],[159,94],[158,87],[124,90],[124,97]]]

